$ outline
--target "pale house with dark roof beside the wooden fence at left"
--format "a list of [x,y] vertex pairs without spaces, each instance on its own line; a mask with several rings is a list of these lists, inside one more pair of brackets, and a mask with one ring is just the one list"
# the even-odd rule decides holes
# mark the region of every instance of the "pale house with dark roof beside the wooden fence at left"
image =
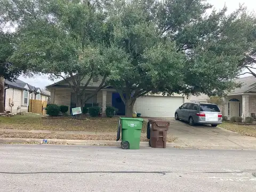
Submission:
[[5,110],[11,113],[27,112],[30,99],[48,101],[50,92],[29,85],[17,79],[15,82],[4,81]]

